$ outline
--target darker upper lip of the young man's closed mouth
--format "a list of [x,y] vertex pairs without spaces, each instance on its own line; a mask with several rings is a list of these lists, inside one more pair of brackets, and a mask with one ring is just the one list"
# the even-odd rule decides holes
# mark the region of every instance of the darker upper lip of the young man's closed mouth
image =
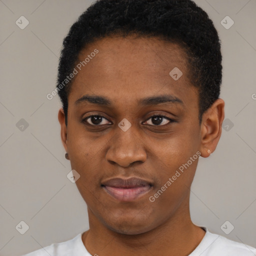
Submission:
[[151,183],[141,178],[131,177],[128,179],[111,178],[106,180],[105,182],[102,182],[102,185],[130,188],[130,187],[148,186],[148,185],[151,186]]

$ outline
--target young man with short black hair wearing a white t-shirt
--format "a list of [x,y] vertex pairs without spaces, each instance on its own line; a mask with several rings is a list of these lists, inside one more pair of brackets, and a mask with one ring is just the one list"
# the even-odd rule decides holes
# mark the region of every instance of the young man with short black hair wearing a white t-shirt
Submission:
[[221,134],[221,69],[217,32],[191,0],[91,5],[64,39],[56,87],[89,230],[26,255],[256,255],[189,213],[198,158]]

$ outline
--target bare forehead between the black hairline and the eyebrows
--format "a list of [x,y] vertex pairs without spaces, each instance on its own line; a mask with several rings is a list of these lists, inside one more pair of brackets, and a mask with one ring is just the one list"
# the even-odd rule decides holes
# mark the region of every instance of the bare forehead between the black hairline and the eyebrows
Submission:
[[[77,63],[95,49],[98,53],[90,56],[74,77],[72,102],[88,93],[104,94],[113,100],[121,96],[126,101],[164,93],[179,94],[185,99],[184,92],[194,89],[188,79],[186,53],[176,43],[155,37],[104,37],[88,44]],[[178,80],[170,76],[173,69],[182,72]]]

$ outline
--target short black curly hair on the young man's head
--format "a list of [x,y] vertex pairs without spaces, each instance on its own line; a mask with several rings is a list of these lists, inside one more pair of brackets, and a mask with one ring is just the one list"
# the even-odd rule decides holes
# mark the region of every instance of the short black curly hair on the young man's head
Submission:
[[[136,34],[176,42],[185,49],[190,82],[198,88],[199,123],[219,97],[222,78],[220,40],[207,13],[192,0],[97,0],[70,27],[61,49],[57,87],[75,67],[89,43],[111,35]],[[72,79],[58,87],[67,125]]]

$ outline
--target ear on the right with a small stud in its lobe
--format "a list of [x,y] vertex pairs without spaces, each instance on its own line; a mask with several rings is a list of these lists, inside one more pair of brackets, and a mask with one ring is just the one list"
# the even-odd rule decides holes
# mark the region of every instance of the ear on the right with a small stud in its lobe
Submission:
[[218,98],[202,115],[200,145],[202,157],[208,157],[217,146],[224,119],[224,105],[223,99]]

